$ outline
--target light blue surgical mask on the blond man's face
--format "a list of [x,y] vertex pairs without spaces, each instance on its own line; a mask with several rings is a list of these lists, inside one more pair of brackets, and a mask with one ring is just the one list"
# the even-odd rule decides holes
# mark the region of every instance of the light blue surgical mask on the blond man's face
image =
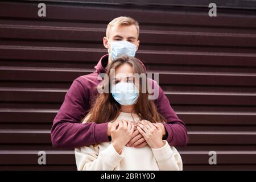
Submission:
[[112,60],[121,55],[134,57],[137,49],[133,43],[130,43],[126,40],[113,41],[110,43],[110,47],[111,50],[109,55],[111,56]]

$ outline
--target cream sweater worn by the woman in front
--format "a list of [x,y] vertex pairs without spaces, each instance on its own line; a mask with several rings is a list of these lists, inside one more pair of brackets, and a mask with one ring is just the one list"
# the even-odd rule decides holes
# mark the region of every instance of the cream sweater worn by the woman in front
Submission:
[[[137,114],[121,112],[116,120],[139,121]],[[86,122],[86,118],[84,119]],[[78,170],[182,170],[182,160],[175,147],[166,140],[161,148],[124,147],[119,155],[112,142],[104,142],[88,147],[75,148],[76,165]]]

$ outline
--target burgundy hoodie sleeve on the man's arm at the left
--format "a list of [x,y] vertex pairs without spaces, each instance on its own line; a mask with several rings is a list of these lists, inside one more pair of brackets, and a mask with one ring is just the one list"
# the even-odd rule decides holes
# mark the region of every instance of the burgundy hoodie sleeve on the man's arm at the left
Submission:
[[53,147],[82,147],[109,142],[108,123],[80,123],[89,108],[88,90],[74,80],[60,107],[51,129]]

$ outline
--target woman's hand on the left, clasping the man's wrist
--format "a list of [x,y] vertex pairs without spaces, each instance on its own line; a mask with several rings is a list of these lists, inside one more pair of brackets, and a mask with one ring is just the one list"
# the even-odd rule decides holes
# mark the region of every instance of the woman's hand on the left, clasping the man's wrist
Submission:
[[110,134],[113,141],[113,146],[118,154],[121,154],[123,147],[129,142],[133,135],[134,124],[121,120],[113,123]]

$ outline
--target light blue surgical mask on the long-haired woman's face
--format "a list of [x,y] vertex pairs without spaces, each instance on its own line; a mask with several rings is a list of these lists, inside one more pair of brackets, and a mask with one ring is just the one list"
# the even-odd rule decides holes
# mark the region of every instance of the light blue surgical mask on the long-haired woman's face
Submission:
[[115,101],[124,106],[134,105],[139,97],[139,90],[133,83],[119,82],[112,86]]

